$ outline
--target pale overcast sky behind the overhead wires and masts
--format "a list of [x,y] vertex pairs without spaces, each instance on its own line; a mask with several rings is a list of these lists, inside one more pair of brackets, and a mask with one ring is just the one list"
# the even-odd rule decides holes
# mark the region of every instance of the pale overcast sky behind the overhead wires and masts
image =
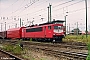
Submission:
[[[0,23],[3,23],[2,30],[20,26],[19,18],[23,24],[29,25],[34,20],[34,24],[47,22],[47,7],[52,5],[52,20],[65,20],[67,16],[67,26],[70,24],[71,30],[76,28],[77,22],[80,30],[85,30],[85,0],[0,0]],[[68,14],[66,14],[68,12]],[[1,19],[1,17],[5,17]],[[14,19],[16,18],[16,20]],[[41,18],[44,18],[41,20]],[[88,30],[90,30],[90,1],[88,0]],[[1,31],[1,25],[0,25]]]

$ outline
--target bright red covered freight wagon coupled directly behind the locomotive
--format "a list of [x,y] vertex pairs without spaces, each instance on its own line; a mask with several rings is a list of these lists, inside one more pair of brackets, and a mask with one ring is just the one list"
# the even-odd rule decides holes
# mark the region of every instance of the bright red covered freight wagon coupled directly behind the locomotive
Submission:
[[7,38],[8,39],[21,39],[22,38],[22,29],[24,27],[19,28],[11,28],[7,30]]

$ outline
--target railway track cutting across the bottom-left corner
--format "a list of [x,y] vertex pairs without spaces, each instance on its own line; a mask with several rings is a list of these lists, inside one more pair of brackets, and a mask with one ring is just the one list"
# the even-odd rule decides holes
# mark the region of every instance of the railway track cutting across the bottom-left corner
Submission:
[[19,58],[11,53],[8,53],[0,49],[0,60],[24,60],[24,59]]

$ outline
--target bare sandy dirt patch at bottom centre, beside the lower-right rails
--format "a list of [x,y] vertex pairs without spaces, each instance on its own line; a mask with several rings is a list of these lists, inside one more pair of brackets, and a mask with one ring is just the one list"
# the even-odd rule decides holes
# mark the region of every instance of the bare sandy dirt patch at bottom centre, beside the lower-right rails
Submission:
[[46,55],[44,51],[26,50],[22,55],[27,60],[68,60],[64,56],[60,58]]

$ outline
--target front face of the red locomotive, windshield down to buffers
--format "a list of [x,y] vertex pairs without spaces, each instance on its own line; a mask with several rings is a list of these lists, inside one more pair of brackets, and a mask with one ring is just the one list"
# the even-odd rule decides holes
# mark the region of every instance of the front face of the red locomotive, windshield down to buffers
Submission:
[[53,42],[62,42],[64,37],[63,25],[57,24],[53,29]]

